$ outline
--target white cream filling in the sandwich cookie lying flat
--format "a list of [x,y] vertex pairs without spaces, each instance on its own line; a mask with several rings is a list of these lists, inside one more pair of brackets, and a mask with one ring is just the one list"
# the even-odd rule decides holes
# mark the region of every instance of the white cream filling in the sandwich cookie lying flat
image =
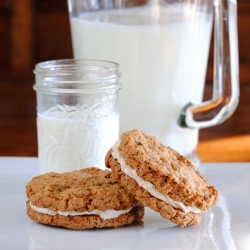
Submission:
[[117,218],[118,216],[120,216],[121,214],[126,214],[128,213],[133,207],[130,207],[128,209],[125,210],[111,210],[108,209],[106,211],[99,211],[97,209],[94,209],[91,212],[76,212],[76,211],[54,211],[51,210],[49,208],[43,208],[43,207],[36,207],[34,205],[31,204],[30,202],[30,206],[33,210],[35,210],[36,212],[40,213],[40,214],[48,214],[51,216],[55,216],[57,214],[62,215],[62,216],[77,216],[77,215],[99,215],[102,219],[104,220],[108,220],[108,219],[112,219],[112,218]]

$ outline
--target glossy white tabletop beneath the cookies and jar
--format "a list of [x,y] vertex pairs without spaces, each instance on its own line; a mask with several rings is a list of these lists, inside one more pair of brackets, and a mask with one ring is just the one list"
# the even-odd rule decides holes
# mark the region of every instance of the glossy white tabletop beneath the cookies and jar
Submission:
[[26,215],[25,185],[38,174],[37,158],[0,157],[0,249],[250,249],[250,163],[201,164],[220,201],[199,225],[172,226],[146,209],[144,225],[73,231]]

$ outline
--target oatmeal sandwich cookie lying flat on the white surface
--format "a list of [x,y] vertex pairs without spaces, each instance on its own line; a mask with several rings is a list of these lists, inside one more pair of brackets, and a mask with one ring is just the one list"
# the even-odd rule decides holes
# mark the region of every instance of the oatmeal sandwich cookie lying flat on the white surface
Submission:
[[46,173],[26,186],[27,214],[39,223],[70,229],[118,227],[141,221],[144,208],[109,170]]

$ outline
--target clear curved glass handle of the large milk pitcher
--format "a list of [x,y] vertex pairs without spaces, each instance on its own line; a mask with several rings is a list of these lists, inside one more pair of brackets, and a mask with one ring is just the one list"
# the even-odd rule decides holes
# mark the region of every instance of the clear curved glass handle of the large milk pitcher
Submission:
[[239,102],[237,1],[214,0],[214,12],[213,96],[198,105],[188,103],[178,119],[181,127],[220,124],[233,114]]

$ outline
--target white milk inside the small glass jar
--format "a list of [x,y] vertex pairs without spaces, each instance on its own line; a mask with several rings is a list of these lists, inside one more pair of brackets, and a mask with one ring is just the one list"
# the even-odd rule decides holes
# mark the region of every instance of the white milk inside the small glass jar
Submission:
[[40,173],[104,169],[105,155],[118,139],[119,115],[64,108],[37,116]]

